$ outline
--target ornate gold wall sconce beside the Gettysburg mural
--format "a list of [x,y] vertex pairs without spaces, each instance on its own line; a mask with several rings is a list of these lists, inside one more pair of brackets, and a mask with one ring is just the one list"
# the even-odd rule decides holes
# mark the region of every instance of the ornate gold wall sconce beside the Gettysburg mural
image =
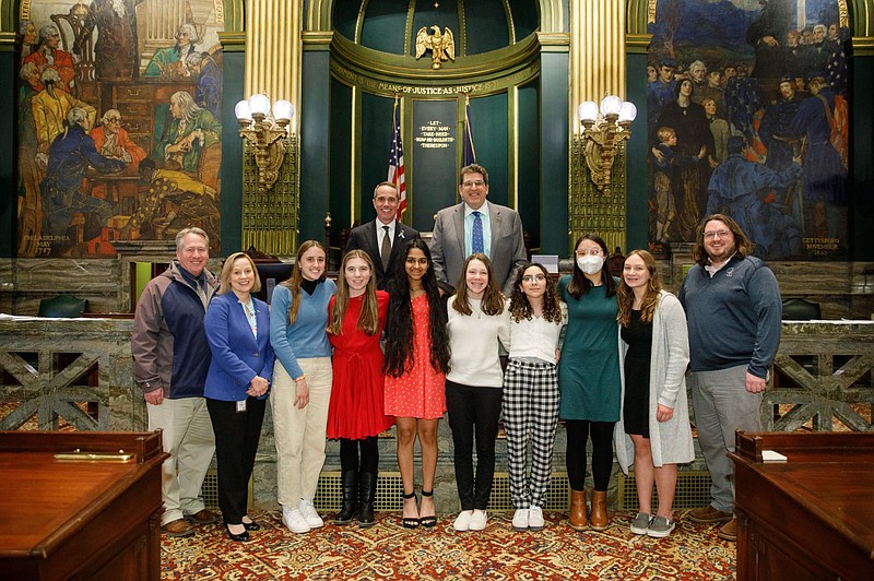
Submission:
[[579,106],[577,115],[582,123],[583,155],[592,181],[598,191],[610,195],[613,159],[616,147],[631,137],[631,122],[637,117],[637,107],[615,96],[607,95],[598,105],[587,100]]

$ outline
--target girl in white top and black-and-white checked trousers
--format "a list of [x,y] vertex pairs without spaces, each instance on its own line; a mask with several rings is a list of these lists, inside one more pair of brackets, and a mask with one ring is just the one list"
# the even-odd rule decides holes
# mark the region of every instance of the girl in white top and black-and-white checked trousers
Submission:
[[[543,507],[558,426],[558,337],[567,307],[542,264],[519,270],[510,297],[510,357],[504,375],[504,428],[516,531],[544,526]],[[531,476],[525,477],[528,442]]]

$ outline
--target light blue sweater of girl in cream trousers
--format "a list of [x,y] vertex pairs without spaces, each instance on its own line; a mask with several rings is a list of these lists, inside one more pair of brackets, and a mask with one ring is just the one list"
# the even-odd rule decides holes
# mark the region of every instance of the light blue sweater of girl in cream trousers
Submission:
[[288,309],[292,306],[292,290],[285,285],[276,285],[270,308],[270,344],[276,359],[292,378],[304,375],[297,359],[330,357],[331,344],[328,342],[328,303],[336,293],[336,285],[328,278],[316,286],[312,296],[300,290],[300,305],[297,319],[288,324]]

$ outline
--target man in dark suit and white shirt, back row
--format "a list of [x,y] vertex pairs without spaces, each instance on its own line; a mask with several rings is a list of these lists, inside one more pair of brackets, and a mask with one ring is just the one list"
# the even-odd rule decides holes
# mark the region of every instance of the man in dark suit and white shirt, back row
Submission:
[[418,238],[418,232],[401,224],[398,215],[398,187],[391,181],[383,181],[374,189],[374,209],[376,220],[357,228],[353,228],[346,242],[346,252],[356,248],[364,250],[374,261],[376,287],[386,289],[394,264],[406,240]]

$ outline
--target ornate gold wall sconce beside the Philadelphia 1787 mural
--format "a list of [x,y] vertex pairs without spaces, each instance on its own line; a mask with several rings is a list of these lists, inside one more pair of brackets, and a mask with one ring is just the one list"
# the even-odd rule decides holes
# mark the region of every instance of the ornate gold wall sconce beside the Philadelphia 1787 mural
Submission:
[[268,96],[257,94],[237,103],[234,114],[239,122],[239,137],[255,147],[258,191],[265,193],[276,182],[285,159],[285,139],[290,134],[294,105],[284,99],[277,100],[271,114]]

